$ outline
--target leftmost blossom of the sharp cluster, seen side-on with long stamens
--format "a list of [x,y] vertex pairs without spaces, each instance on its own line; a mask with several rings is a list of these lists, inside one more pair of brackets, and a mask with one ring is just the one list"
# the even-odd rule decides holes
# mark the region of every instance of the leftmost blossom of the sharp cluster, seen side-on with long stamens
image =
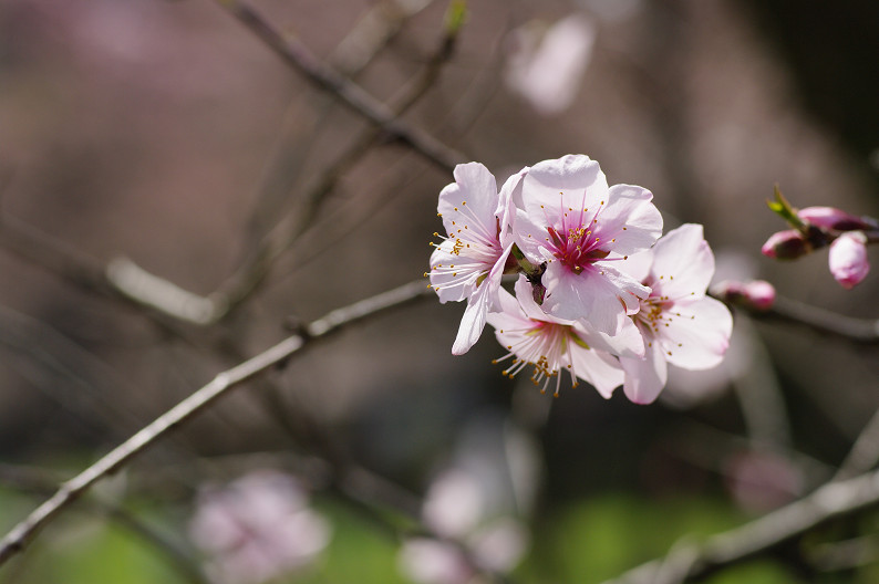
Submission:
[[[507,242],[509,196],[479,163],[455,167],[455,182],[439,192],[437,210],[448,237],[431,254],[431,285],[439,302],[467,301],[452,346],[462,355],[478,341],[485,315],[497,301],[513,242]],[[436,233],[438,236],[438,233]]]

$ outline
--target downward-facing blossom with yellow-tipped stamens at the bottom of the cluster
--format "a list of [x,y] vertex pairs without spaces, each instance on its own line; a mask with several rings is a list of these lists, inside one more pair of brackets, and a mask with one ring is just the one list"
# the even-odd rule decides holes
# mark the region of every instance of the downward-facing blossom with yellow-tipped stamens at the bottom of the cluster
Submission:
[[[501,312],[488,314],[488,323],[495,327],[498,342],[509,353],[495,361],[500,363],[511,358],[511,365],[504,375],[515,377],[527,366],[534,366],[531,380],[541,385],[546,392],[555,379],[555,395],[558,395],[561,377],[559,372],[567,369],[573,386],[583,379],[603,397],[610,397],[613,389],[623,382],[623,372],[610,351],[619,351],[632,358],[643,353],[643,341],[638,331],[621,326],[621,334],[614,337],[611,346],[600,334],[591,332],[580,322],[562,321],[545,314],[531,295],[531,284],[523,275],[516,282],[516,298],[500,290]],[[592,348],[596,345],[601,348]]]

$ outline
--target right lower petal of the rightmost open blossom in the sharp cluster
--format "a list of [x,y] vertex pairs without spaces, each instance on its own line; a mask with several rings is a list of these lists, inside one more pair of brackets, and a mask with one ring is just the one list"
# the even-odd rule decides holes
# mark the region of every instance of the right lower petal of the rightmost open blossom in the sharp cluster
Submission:
[[[680,313],[680,316],[678,315]],[[663,313],[658,340],[665,359],[684,369],[710,369],[730,346],[733,315],[723,302],[704,298],[675,304]]]

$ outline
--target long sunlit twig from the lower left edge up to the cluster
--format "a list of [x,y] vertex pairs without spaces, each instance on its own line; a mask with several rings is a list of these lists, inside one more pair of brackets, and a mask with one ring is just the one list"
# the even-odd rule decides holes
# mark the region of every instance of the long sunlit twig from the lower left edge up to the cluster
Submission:
[[80,498],[92,484],[122,468],[170,429],[189,420],[216,399],[228,394],[230,389],[276,365],[285,363],[313,340],[339,331],[343,326],[368,316],[401,306],[426,295],[428,292],[430,290],[424,282],[418,280],[334,310],[306,326],[301,334],[289,336],[240,365],[217,374],[210,383],[153,420],[80,474],[63,483],[54,496],[37,508],[0,541],[0,565],[23,550],[40,529]]

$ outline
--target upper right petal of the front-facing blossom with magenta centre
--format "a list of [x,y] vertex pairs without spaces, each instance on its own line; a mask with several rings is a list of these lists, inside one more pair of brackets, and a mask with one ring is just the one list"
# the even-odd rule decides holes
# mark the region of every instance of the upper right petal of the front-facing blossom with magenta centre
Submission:
[[596,223],[601,248],[620,255],[650,249],[662,234],[662,215],[652,199],[653,194],[642,187],[610,187],[607,205]]

